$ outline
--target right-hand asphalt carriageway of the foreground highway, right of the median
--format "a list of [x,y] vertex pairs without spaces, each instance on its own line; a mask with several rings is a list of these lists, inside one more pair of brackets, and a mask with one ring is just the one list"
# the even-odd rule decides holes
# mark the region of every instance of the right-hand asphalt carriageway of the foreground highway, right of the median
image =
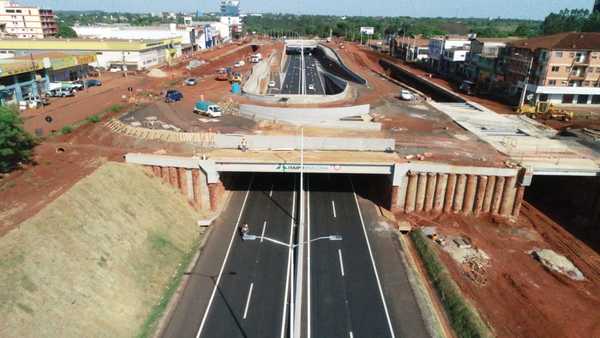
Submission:
[[312,337],[392,337],[367,238],[346,175],[309,177]]

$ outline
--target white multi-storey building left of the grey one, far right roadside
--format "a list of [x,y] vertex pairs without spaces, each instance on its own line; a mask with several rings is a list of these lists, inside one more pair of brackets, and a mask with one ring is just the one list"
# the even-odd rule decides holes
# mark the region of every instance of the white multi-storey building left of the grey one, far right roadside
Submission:
[[465,36],[438,36],[429,40],[429,58],[433,71],[443,75],[460,74],[471,48]]

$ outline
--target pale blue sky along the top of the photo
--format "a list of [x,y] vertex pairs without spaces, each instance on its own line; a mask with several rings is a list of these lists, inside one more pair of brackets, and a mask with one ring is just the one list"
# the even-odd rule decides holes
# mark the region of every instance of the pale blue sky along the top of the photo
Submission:
[[[13,0],[55,10],[123,12],[216,11],[219,0]],[[543,19],[564,8],[589,8],[594,0],[241,0],[242,12],[417,17]]]

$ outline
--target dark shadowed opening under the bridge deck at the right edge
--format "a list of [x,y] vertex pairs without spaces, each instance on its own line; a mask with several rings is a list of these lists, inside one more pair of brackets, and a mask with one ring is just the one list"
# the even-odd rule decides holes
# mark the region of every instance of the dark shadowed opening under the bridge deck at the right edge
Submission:
[[600,177],[536,176],[525,200],[600,253]]

